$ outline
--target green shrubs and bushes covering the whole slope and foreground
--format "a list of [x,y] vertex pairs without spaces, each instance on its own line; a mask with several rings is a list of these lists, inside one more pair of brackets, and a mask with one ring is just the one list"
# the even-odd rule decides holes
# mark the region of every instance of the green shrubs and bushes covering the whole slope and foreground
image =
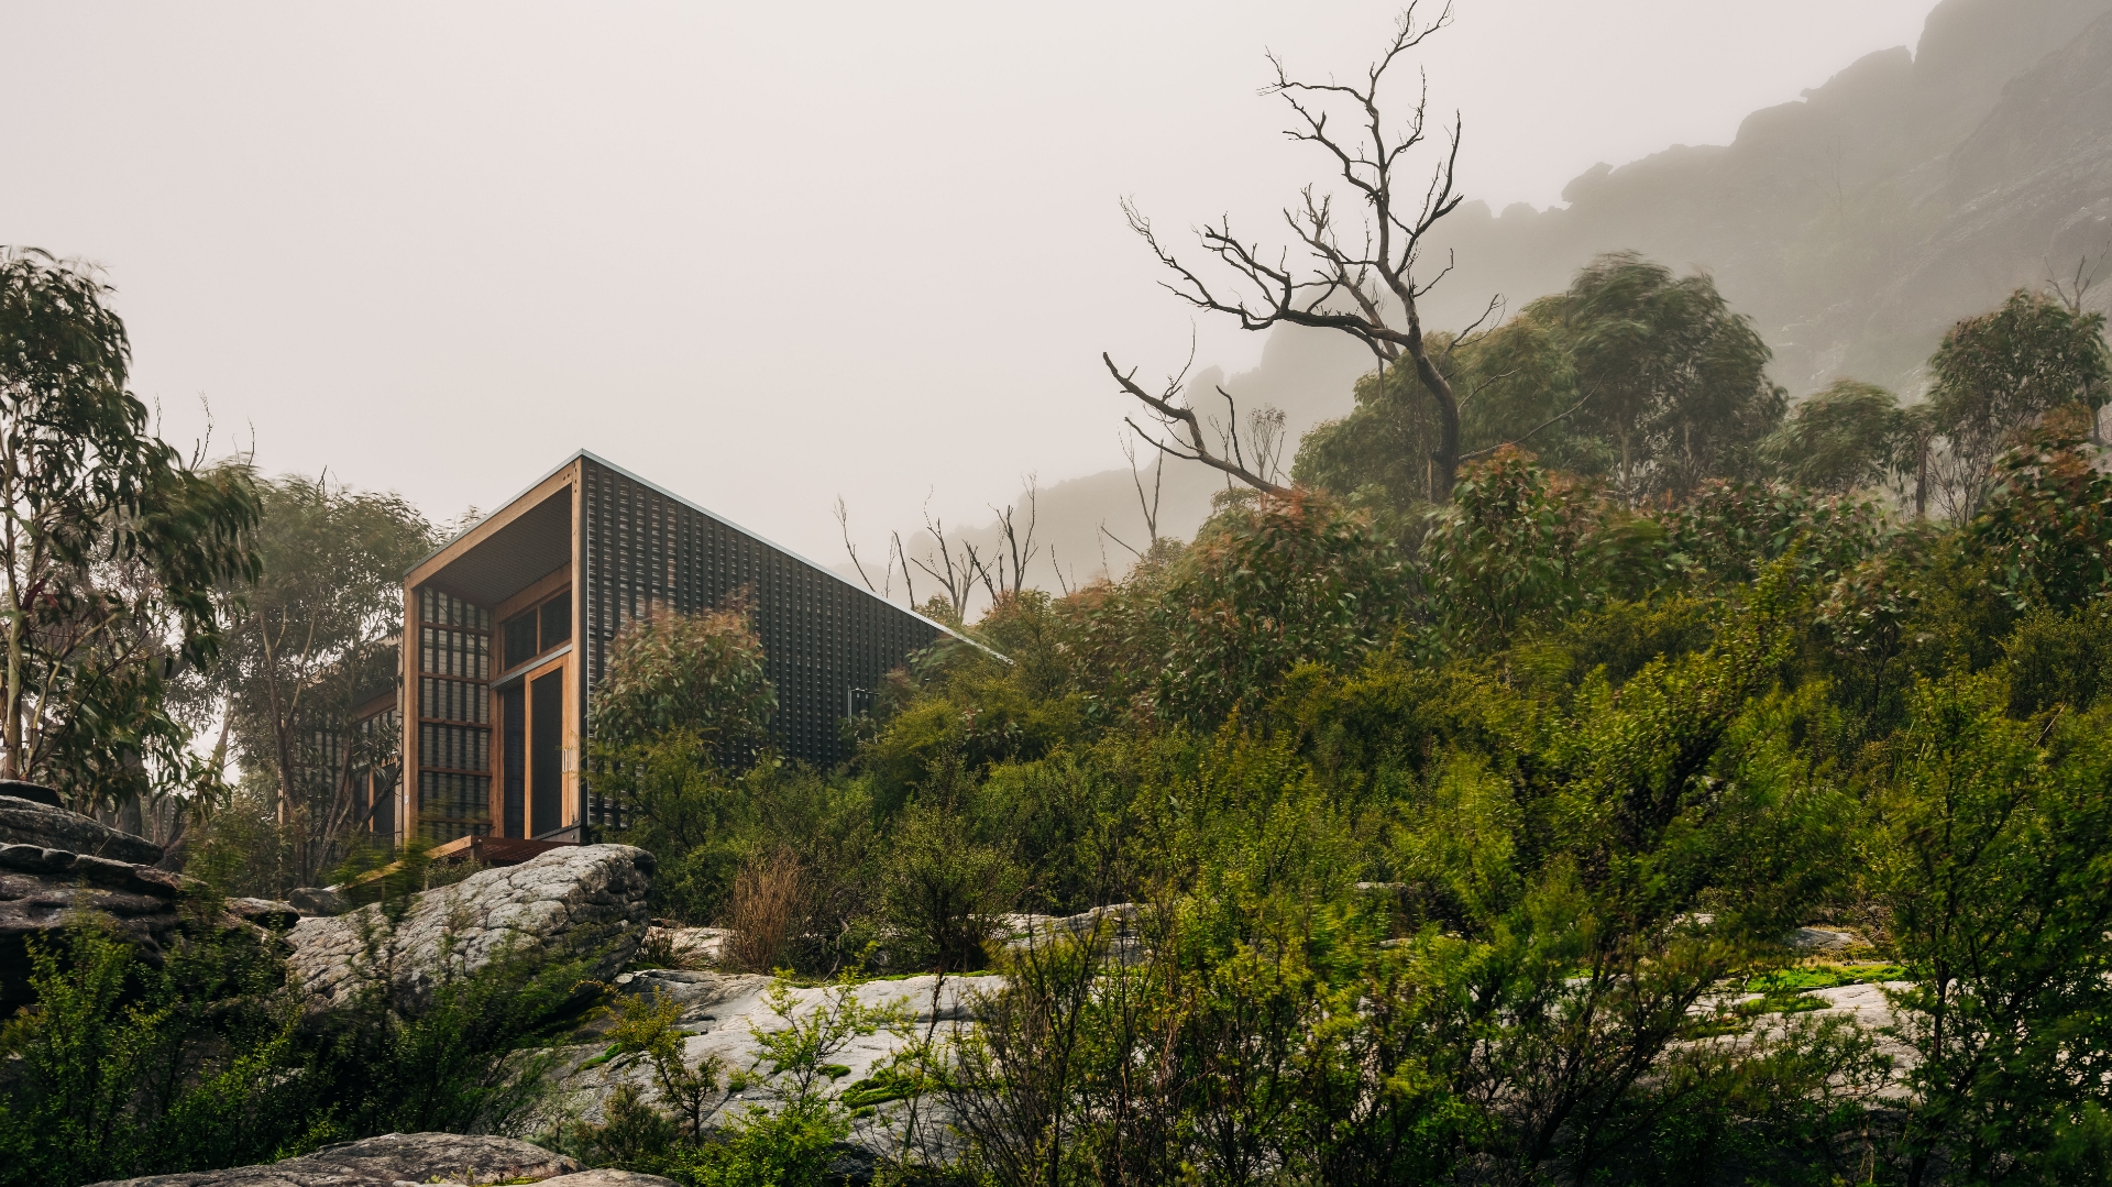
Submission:
[[[2034,342],[2019,308],[1945,365],[1998,374],[1975,353]],[[2085,422],[2009,391],[1985,498],[1932,524],[1905,475],[1964,437],[1846,384],[1776,427],[1755,342],[1633,258],[1432,334],[1487,450],[1442,505],[1402,452],[1417,395],[1373,376],[1301,456],[1331,490],[1007,591],[834,769],[754,752],[737,608],[636,627],[598,718],[610,839],[659,855],[657,912],[834,980],[773,982],[743,1069],[619,997],[610,1058],[650,1086],[581,1149],[686,1183],[817,1183],[889,1132],[889,1176],[1052,1187],[2101,1179],[2112,492]],[[1987,382],[2070,391],[2061,359]],[[1533,425],[1540,456],[1504,444]],[[289,843],[272,807],[228,803],[194,868],[241,885]],[[391,910],[429,877],[406,853]],[[999,948],[1012,910],[1041,919]],[[1802,925],[1852,929],[1854,965],[1799,957]],[[581,1005],[572,955],[515,953],[418,1016],[374,993],[287,1026],[268,953],[72,944],[6,1031],[0,1174],[505,1130]],[[1003,976],[944,1033],[851,984],[980,963]],[[1890,1033],[1823,1010],[1871,980]],[[898,1056],[843,1084],[883,1033]],[[906,1153],[936,1096],[959,1157]]]

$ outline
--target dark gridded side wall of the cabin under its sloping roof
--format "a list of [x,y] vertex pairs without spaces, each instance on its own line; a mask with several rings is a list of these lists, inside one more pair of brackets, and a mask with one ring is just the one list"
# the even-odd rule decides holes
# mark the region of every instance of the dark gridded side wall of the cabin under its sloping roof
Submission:
[[[722,606],[746,589],[777,691],[771,724],[788,758],[845,758],[845,716],[866,712],[881,678],[942,634],[798,555],[777,549],[593,456],[581,458],[579,642],[587,689],[602,678],[608,640],[653,606],[678,613]],[[587,722],[581,722],[581,737]],[[612,805],[589,796],[587,824],[615,826]]]

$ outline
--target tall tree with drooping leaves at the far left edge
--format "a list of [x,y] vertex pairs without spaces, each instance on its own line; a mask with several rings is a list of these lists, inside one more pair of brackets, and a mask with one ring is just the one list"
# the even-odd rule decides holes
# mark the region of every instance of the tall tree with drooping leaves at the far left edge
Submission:
[[0,249],[0,775],[82,807],[190,777],[165,684],[213,661],[213,591],[258,572],[247,469],[150,431],[108,294],[84,264]]

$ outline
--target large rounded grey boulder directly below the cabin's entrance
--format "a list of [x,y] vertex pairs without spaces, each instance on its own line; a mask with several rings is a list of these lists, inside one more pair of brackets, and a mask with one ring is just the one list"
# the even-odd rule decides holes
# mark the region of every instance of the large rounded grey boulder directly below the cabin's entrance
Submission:
[[289,976],[317,1010],[348,1003],[386,978],[399,1010],[431,1003],[433,986],[509,950],[600,953],[589,976],[608,980],[646,931],[653,855],[629,845],[566,845],[412,896],[391,927],[380,904],[304,917],[287,931]]

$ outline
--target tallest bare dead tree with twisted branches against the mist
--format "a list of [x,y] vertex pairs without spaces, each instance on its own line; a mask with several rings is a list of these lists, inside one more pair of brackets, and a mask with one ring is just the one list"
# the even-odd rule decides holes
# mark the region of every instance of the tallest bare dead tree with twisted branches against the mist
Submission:
[[[1276,325],[1337,329],[1362,342],[1377,357],[1381,370],[1407,359],[1438,410],[1438,446],[1430,454],[1432,501],[1451,494],[1459,471],[1459,399],[1451,380],[1445,378],[1442,357],[1434,357],[1423,342],[1417,302],[1445,279],[1451,270],[1451,258],[1447,256],[1445,266],[1436,268],[1434,275],[1421,272],[1428,279],[1419,279],[1419,268],[1430,232],[1462,203],[1455,169],[1464,123],[1457,114],[1453,116],[1451,129],[1445,133],[1447,150],[1428,182],[1421,186],[1404,184],[1407,156],[1430,142],[1428,84],[1417,93],[1407,123],[1398,129],[1385,118],[1379,93],[1394,63],[1449,23],[1449,4],[1434,21],[1417,21],[1415,4],[1409,4],[1394,27],[1392,42],[1364,72],[1362,82],[1301,82],[1290,78],[1280,57],[1269,55],[1276,82],[1263,93],[1282,97],[1290,108],[1293,127],[1284,135],[1293,142],[1314,144],[1335,161],[1337,180],[1362,205],[1364,234],[1360,245],[1343,243],[1335,199],[1316,186],[1305,186],[1301,203],[1284,209],[1284,222],[1290,226],[1297,247],[1269,251],[1259,243],[1242,241],[1229,218],[1204,224],[1198,234],[1202,249],[1217,256],[1231,272],[1231,285],[1217,289],[1159,243],[1151,220],[1134,203],[1124,201],[1121,205],[1130,228],[1145,239],[1159,264],[1172,270],[1174,279],[1166,281],[1166,289],[1191,306],[1236,317],[1242,329],[1271,329]],[[1339,108],[1352,112],[1350,127],[1354,131],[1350,135],[1339,135],[1328,125],[1331,112]],[[1301,253],[1303,260],[1293,262],[1293,251]],[[1472,336],[1497,306],[1500,300],[1491,300],[1483,317],[1455,342]],[[1282,492],[1282,486],[1238,456],[1223,456],[1208,448],[1193,410],[1176,403],[1178,382],[1168,384],[1164,395],[1153,395],[1134,382],[1134,370],[1121,372],[1105,353],[1100,359],[1115,382],[1176,435],[1172,444],[1149,437],[1162,452],[1212,465],[1255,490]]]

